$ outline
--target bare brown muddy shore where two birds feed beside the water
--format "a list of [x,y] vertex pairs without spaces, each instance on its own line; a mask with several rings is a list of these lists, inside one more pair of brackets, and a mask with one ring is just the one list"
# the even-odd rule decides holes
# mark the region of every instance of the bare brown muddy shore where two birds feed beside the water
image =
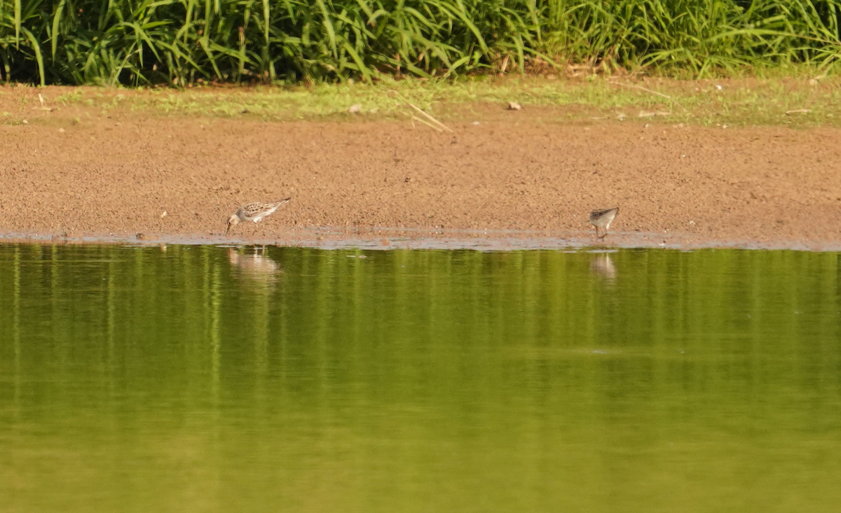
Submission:
[[33,111],[27,124],[0,124],[0,234],[221,242],[238,205],[293,196],[230,239],[563,247],[595,240],[591,209],[619,206],[609,245],[841,247],[841,130],[481,112],[436,133]]

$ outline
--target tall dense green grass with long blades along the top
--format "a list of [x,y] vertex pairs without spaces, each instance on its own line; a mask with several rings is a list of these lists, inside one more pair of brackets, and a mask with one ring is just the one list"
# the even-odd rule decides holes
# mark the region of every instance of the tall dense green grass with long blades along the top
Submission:
[[0,79],[376,81],[833,68],[841,0],[0,0]]

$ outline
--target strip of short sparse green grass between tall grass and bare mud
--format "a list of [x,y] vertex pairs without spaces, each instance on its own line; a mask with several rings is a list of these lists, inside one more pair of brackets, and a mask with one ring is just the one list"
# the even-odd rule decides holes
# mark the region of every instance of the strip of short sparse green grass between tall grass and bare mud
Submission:
[[[720,88],[719,88],[720,86]],[[0,123],[35,122],[29,88],[0,87]],[[841,126],[841,78],[809,76],[676,81],[628,77],[565,81],[542,77],[480,77],[459,81],[379,81],[313,86],[168,88],[45,88],[49,116],[156,113],[188,118],[266,121],[403,120],[424,109],[445,123],[510,120],[546,123],[689,123],[702,126]],[[666,98],[662,95],[668,96]],[[524,110],[510,112],[507,102]],[[357,114],[348,113],[354,105]],[[801,111],[801,112],[794,112]],[[807,112],[803,112],[807,111]],[[82,114],[80,114],[82,113]],[[668,116],[648,116],[669,113]],[[46,114],[43,114],[46,116]]]

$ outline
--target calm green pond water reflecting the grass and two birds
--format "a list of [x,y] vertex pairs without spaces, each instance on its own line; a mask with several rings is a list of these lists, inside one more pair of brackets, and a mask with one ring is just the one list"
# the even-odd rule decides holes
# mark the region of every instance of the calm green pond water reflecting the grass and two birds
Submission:
[[0,511],[841,504],[838,254],[250,253],[0,246]]

